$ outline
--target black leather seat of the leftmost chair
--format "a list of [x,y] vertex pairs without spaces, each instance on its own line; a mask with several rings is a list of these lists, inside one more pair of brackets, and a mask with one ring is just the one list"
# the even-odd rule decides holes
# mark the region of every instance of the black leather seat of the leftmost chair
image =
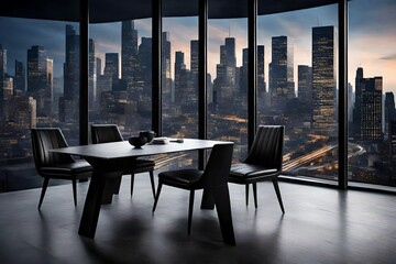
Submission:
[[80,161],[75,163],[57,164],[56,167],[41,167],[40,174],[52,178],[72,178],[80,174],[91,173],[92,167],[89,163]]

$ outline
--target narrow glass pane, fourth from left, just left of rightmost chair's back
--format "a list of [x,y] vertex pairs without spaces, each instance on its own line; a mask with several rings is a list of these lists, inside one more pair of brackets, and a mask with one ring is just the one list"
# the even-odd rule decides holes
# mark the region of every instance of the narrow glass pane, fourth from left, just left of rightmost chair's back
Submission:
[[[246,7],[248,1],[240,4]],[[227,9],[210,1],[208,8]],[[245,18],[208,20],[208,139],[234,142],[235,162],[243,161],[248,154]]]

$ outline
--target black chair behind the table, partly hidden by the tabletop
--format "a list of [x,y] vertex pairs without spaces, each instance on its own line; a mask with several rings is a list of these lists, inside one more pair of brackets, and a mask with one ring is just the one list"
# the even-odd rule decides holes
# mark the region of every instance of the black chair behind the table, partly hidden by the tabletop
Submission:
[[[117,124],[92,124],[91,135],[92,135],[92,144],[123,141],[123,138]],[[154,185],[155,162],[150,160],[136,158],[124,165],[125,167],[122,168],[122,173],[131,174],[131,196],[133,195],[134,175],[139,173],[150,173],[153,197],[155,197],[155,185]],[[120,185],[118,184],[118,188],[114,190],[114,194],[119,193],[119,188]]]

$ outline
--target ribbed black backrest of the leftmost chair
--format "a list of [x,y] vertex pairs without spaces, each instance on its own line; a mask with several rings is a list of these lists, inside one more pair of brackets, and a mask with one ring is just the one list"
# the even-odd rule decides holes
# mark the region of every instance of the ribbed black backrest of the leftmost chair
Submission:
[[52,153],[50,150],[66,147],[67,142],[58,128],[32,129],[32,150],[35,166],[41,167],[56,164],[73,163],[75,160],[68,154]]

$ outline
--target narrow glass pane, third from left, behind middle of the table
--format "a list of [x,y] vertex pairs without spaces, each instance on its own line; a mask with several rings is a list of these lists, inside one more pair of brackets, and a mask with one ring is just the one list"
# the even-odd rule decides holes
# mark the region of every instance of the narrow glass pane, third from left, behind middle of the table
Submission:
[[[163,1],[169,9],[173,1]],[[188,6],[198,10],[198,0]],[[163,18],[163,135],[198,138],[198,16]],[[178,155],[176,155],[178,156]],[[168,168],[197,167],[197,153],[169,155]]]

